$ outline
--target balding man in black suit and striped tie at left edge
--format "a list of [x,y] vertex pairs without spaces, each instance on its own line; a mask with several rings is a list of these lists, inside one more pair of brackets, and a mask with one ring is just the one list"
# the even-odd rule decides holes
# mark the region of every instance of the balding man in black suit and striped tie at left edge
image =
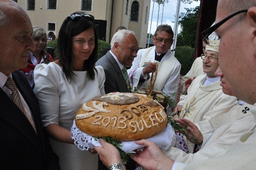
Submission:
[[41,122],[39,103],[20,68],[35,50],[30,18],[17,3],[0,1],[0,169],[59,170]]

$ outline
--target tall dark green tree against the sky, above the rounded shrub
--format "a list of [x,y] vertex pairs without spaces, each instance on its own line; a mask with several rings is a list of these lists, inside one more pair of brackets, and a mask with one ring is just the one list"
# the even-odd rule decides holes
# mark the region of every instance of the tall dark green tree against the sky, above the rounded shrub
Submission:
[[181,31],[177,35],[176,46],[195,47],[197,37],[197,21],[199,16],[199,6],[195,8],[185,8],[186,13],[181,13],[178,24]]

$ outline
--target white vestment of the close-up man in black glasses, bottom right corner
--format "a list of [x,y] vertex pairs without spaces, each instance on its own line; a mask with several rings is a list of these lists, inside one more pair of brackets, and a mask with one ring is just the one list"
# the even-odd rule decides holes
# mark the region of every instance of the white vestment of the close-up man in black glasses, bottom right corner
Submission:
[[[256,119],[256,103],[250,109]],[[195,161],[190,164],[177,163],[175,170],[253,170],[256,167],[256,131],[244,133],[223,155]]]

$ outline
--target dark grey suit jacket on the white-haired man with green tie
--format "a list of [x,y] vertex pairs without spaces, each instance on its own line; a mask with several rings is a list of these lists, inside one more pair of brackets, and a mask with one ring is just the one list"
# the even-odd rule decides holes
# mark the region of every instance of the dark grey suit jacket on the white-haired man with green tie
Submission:
[[125,82],[124,75],[122,74],[122,70],[110,52],[107,52],[106,55],[101,57],[96,62],[96,65],[100,65],[104,69],[106,76],[106,81],[104,83],[106,94],[110,92],[130,92]]

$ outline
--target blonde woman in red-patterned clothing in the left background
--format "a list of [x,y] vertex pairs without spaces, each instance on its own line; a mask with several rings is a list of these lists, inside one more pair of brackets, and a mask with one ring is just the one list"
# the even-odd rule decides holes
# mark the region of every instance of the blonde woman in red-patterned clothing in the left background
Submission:
[[35,83],[34,83],[34,69],[40,63],[48,64],[53,59],[50,54],[48,54],[46,50],[46,32],[43,28],[39,26],[33,26],[33,35],[32,39],[35,44],[35,50],[30,52],[30,56],[28,57],[28,66],[26,68],[20,69],[20,72],[24,74],[24,76],[28,79],[30,86],[35,92]]

